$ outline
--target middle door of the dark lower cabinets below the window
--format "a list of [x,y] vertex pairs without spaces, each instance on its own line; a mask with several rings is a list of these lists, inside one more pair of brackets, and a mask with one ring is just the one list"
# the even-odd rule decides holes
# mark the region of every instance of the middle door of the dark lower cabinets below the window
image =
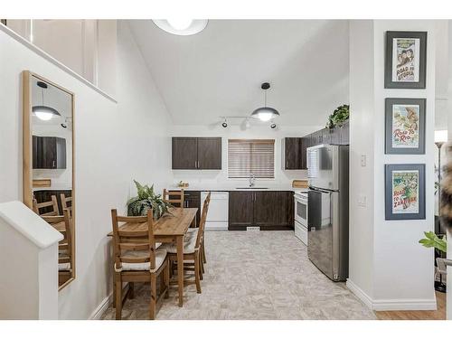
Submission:
[[254,193],[254,224],[259,226],[277,226],[279,224],[279,193]]

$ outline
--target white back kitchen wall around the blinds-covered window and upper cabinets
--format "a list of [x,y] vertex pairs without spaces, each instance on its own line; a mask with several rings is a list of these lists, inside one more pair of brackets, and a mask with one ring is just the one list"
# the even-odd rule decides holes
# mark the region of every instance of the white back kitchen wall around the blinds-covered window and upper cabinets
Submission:
[[[325,115],[326,122],[326,115]],[[257,179],[260,184],[291,184],[293,179],[306,179],[304,170],[283,170],[281,160],[281,140],[284,137],[304,137],[323,127],[278,127],[272,130],[270,127],[251,125],[250,129],[244,130],[238,125],[227,128],[221,127],[221,122],[215,126],[182,126],[175,125],[170,129],[171,137],[221,137],[221,170],[173,170],[173,184],[179,181],[188,182],[194,187],[205,185],[212,187],[215,184],[229,185],[235,183],[248,183],[248,180],[228,179],[228,139],[230,138],[261,138],[275,139],[275,179]]]

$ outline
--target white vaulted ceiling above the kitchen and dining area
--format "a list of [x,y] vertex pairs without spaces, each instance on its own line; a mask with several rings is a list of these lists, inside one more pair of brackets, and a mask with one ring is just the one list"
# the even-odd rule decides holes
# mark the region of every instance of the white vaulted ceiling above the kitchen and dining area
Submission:
[[174,124],[250,115],[264,81],[279,125],[324,125],[348,103],[348,21],[210,20],[192,36],[129,24]]

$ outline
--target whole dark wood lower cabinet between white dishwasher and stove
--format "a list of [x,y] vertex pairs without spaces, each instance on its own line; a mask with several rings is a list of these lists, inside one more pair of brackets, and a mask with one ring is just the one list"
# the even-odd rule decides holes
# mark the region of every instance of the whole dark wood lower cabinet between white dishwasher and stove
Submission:
[[259,226],[261,231],[292,230],[293,214],[292,192],[230,192],[230,231],[246,231],[250,226]]

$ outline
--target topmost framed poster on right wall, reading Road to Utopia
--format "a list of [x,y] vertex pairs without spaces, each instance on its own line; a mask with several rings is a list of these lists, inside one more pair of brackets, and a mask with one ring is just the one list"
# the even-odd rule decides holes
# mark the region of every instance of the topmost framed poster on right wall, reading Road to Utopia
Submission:
[[425,89],[427,32],[386,32],[385,89]]

